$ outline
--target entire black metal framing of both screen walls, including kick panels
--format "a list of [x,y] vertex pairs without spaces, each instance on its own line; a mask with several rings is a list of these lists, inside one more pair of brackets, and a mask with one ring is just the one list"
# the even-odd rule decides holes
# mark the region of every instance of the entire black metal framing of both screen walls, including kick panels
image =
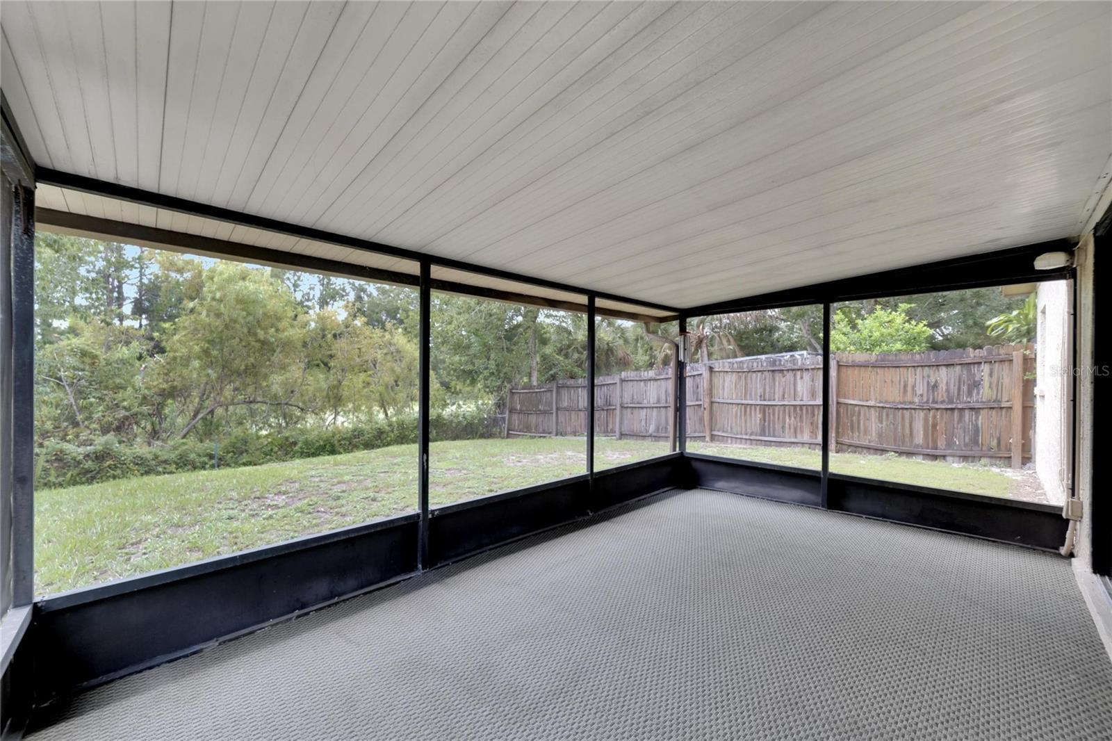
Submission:
[[[7,101],[3,112],[6,132],[11,124],[11,130],[18,138],[18,129],[14,128],[14,122],[9,120]],[[1060,531],[1064,533],[1064,521],[1058,515],[1056,508],[1045,505],[1005,502],[891,482],[856,480],[830,473],[828,426],[825,422],[828,414],[826,386],[830,370],[825,358],[822,471],[795,470],[687,453],[685,449],[687,415],[686,405],[683,403],[686,396],[685,358],[679,357],[677,388],[674,394],[676,404],[673,409],[677,415],[674,428],[677,431],[678,452],[596,472],[593,434],[595,399],[594,394],[588,393],[588,456],[585,475],[430,508],[428,504],[428,307],[429,295],[434,288],[440,289],[443,286],[444,289],[451,290],[451,286],[438,285],[431,279],[433,266],[584,295],[588,317],[587,376],[588,386],[593,389],[597,313],[595,304],[598,298],[641,305],[669,315],[675,314],[681,332],[686,328],[686,319],[691,316],[823,304],[824,349],[828,350],[830,304],[835,300],[1072,277],[1072,270],[1034,273],[1031,267],[1033,257],[1041,253],[1071,250],[1073,246],[1066,240],[887,270],[679,310],[83,176],[41,168],[36,175],[40,182],[62,188],[415,260],[420,267],[416,284],[420,289],[423,314],[419,360],[421,414],[418,434],[420,472],[418,512],[78,590],[36,603],[33,622],[19,651],[34,656],[39,670],[34,674],[33,689],[40,702],[197,651],[216,641],[255,630],[269,621],[300,614],[353,594],[394,583],[423,569],[451,563],[562,523],[593,516],[623,502],[672,486],[713,486],[863,516],[964,532],[1032,547],[1052,547],[1061,542]],[[212,246],[214,243],[207,244]],[[236,249],[242,250],[245,247]],[[33,267],[33,255],[31,257],[30,266]],[[284,253],[265,257],[287,264],[296,259]],[[318,266],[310,269],[328,270],[336,267],[336,265]],[[26,264],[21,267],[21,270],[29,269]],[[28,271],[24,275],[31,274]],[[413,276],[399,275],[406,276],[399,280],[413,285]],[[368,274],[361,277],[373,276]],[[466,290],[483,295],[475,287],[467,287]],[[30,306],[33,306],[33,299],[26,303],[26,307]],[[661,317],[655,320],[669,318],[673,317]],[[24,326],[26,315],[21,317],[21,322],[23,323],[20,325],[21,333],[24,333],[29,340],[32,335]],[[29,344],[27,347],[30,352]],[[32,355],[28,357],[33,360]],[[27,367],[24,373],[26,370]],[[30,378],[31,376],[27,375],[24,386],[20,389],[27,399],[28,408],[31,403],[31,389],[26,382]],[[28,429],[21,427],[21,434],[26,434],[24,439],[29,445],[31,436]],[[1098,444],[1095,431],[1093,443],[1094,446]],[[28,476],[28,486],[29,482]],[[1106,508],[1102,506],[1101,511],[1108,516]],[[995,521],[995,530],[982,527],[974,531],[966,526],[970,521],[979,520]],[[1094,524],[1095,522],[1094,520]],[[30,539],[27,541],[27,546],[30,547]],[[1094,542],[1094,556],[1095,547]],[[183,610],[186,605],[189,610]],[[24,660],[21,665],[26,666],[27,663]],[[4,699],[10,700],[13,695],[9,694],[7,674],[4,682]]]

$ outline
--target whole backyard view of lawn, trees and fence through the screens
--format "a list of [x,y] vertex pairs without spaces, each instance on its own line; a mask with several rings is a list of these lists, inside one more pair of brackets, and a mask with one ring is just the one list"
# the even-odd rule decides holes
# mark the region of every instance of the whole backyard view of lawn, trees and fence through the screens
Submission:
[[[39,594],[416,511],[413,287],[36,240]],[[587,316],[429,300],[428,419],[449,441],[431,445],[431,505],[584,473]],[[831,470],[1042,501],[1033,445],[1007,455],[1033,429],[1034,379],[1015,372],[1034,359],[1033,306],[996,288],[840,305],[832,449],[907,455],[835,452]],[[596,470],[668,449],[679,325],[635,316],[595,318]],[[688,449],[817,470],[822,320],[820,306],[691,317]],[[934,448],[971,463],[915,460]]]

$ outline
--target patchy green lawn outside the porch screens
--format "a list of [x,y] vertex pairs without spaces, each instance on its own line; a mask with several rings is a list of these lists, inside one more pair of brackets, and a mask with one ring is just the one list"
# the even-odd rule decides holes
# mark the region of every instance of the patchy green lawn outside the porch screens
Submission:
[[[689,445],[693,452],[818,467],[815,451]],[[596,441],[596,468],[667,452],[661,443]],[[583,438],[434,443],[435,506],[584,473]],[[417,508],[417,446],[199,471],[36,492],[36,587],[52,594]],[[986,467],[894,456],[832,456],[832,470],[1009,496]]]

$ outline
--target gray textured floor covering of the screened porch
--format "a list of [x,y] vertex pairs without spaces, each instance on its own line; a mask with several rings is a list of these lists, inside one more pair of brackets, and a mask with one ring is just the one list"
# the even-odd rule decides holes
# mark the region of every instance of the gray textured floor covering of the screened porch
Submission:
[[676,492],[79,698],[48,739],[1106,739],[1056,556]]

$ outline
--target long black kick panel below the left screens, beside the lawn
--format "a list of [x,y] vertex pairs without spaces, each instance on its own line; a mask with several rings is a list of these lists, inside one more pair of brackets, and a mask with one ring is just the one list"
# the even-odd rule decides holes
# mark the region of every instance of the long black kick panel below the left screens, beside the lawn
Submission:
[[[195,653],[678,486],[679,454],[300,537],[47,597],[29,633],[37,704]],[[418,564],[421,524],[429,553]]]

